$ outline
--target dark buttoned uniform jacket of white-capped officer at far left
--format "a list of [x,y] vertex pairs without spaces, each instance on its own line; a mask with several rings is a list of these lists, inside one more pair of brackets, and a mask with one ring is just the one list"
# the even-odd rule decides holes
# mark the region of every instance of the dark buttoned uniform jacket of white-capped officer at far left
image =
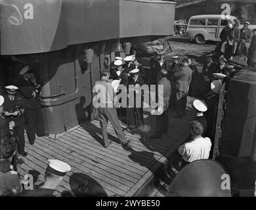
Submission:
[[[5,95],[5,104],[3,105],[3,110],[7,112],[15,112],[15,111],[20,111],[25,109],[25,103],[24,103],[24,98],[22,95],[17,93],[14,96],[14,100],[10,100],[8,95]],[[24,114],[20,116],[5,116],[7,121],[14,121],[15,127],[18,127],[20,125],[25,124],[25,117]]]

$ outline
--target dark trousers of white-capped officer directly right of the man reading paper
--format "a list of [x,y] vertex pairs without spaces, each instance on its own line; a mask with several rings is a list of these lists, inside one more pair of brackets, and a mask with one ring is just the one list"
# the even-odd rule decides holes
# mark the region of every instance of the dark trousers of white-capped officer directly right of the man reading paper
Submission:
[[143,124],[143,109],[142,108],[127,108],[128,124],[131,127],[139,127]]

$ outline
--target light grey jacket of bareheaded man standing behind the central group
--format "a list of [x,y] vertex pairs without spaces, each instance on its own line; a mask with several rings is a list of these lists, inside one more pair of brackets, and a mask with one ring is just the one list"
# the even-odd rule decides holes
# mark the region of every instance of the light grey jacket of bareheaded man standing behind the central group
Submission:
[[192,79],[192,70],[188,66],[181,67],[174,76],[176,78],[176,89],[181,92],[187,92],[188,85],[190,85]]

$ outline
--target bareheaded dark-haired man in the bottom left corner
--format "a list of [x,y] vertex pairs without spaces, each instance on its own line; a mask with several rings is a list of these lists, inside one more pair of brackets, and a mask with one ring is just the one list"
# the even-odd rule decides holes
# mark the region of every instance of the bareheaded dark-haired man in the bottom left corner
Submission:
[[13,135],[7,135],[1,140],[0,196],[15,196],[22,192],[20,177],[11,165],[17,142],[17,137]]

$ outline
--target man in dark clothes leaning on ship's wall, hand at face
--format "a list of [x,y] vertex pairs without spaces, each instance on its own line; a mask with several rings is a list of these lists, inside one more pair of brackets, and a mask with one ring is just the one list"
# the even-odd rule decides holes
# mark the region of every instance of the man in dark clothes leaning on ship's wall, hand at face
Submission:
[[49,135],[45,133],[45,126],[43,124],[43,114],[39,98],[41,85],[37,84],[29,66],[24,67],[20,71],[20,75],[22,75],[22,79],[19,84],[19,89],[26,102],[25,117],[28,126],[28,140],[30,144],[34,144],[35,133],[37,133],[37,137]]

